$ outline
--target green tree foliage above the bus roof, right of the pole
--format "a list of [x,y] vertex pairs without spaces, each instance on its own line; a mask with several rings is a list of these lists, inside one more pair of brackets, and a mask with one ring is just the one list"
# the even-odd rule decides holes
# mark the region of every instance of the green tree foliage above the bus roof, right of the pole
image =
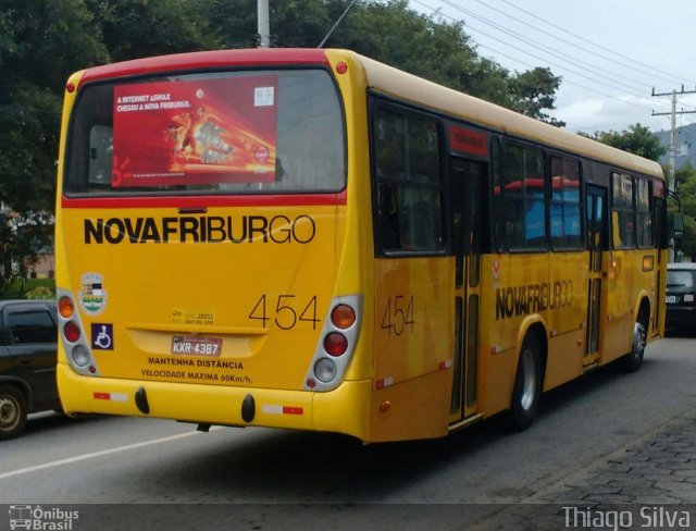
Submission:
[[[285,10],[276,9],[272,13],[282,17],[277,21],[272,17],[274,27],[279,28],[281,46],[316,46],[346,8],[343,0],[308,0],[302,2],[308,10],[303,15],[289,16],[296,3],[285,2]],[[359,2],[326,46],[348,48],[527,116],[564,125],[545,112],[554,109],[561,82],[550,70],[511,74],[478,54],[462,22],[426,16],[408,5],[407,0]],[[307,23],[309,12],[311,24]]]

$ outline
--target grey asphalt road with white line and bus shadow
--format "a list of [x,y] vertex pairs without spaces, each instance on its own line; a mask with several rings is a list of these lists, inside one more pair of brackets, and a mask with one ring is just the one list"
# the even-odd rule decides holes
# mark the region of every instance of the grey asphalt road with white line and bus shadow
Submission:
[[174,504],[100,506],[88,517],[102,529],[130,529],[127,518],[142,529],[169,529],[167,519],[178,529],[318,520],[327,529],[460,529],[693,410],[695,373],[695,338],[670,336],[649,346],[637,373],[605,368],[545,395],[525,432],[490,419],[444,440],[371,446],[331,434],[198,433],[172,421],[42,413],[23,437],[0,443],[0,504]]

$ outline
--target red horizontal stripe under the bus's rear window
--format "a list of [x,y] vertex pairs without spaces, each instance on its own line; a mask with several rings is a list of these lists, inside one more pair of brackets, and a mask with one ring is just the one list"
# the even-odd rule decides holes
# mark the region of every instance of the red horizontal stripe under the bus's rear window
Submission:
[[207,208],[207,207],[312,207],[346,205],[346,190],[338,194],[170,197],[65,197],[63,208]]

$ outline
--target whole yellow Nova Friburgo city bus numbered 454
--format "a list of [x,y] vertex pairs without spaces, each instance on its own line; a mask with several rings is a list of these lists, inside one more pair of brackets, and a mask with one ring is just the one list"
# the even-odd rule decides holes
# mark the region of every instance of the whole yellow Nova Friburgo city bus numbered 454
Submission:
[[660,166],[346,50],[66,84],[69,415],[439,437],[663,333]]

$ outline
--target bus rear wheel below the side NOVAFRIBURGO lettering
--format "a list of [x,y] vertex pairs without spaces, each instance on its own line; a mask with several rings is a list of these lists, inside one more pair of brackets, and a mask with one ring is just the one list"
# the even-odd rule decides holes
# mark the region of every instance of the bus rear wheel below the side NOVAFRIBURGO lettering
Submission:
[[542,399],[542,356],[539,341],[533,333],[522,344],[514,376],[510,417],[512,428],[526,430],[536,418]]

